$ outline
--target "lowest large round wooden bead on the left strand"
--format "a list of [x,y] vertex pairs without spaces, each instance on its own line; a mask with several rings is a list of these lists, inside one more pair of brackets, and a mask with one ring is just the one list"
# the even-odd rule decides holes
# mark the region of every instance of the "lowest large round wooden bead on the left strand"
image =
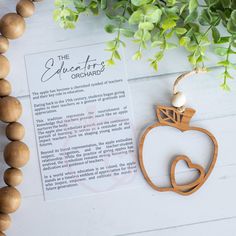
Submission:
[[16,211],[21,202],[20,192],[14,187],[0,188],[0,212],[12,213]]

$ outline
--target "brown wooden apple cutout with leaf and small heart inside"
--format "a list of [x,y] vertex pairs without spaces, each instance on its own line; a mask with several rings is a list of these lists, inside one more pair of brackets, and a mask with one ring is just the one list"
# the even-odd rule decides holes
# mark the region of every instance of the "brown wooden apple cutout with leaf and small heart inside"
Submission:
[[[189,126],[190,120],[193,117],[195,110],[191,108],[186,108],[183,112],[179,111],[175,107],[166,107],[166,106],[158,106],[157,107],[157,118],[159,122],[149,126],[143,133],[140,144],[139,144],[139,164],[141,171],[144,175],[144,178],[148,182],[148,184],[155,190],[160,192],[165,191],[173,191],[179,193],[181,195],[190,195],[196,192],[207,180],[209,175],[211,174],[217,159],[218,154],[218,144],[215,137],[208,131],[203,128],[199,127],[191,127]],[[205,170],[202,166],[198,165],[197,163],[192,163],[189,157],[184,155],[178,155],[171,163],[170,167],[170,182],[171,187],[158,187],[149,177],[146,168],[144,166],[144,156],[143,156],[143,148],[144,148],[144,141],[145,138],[148,136],[149,132],[153,129],[157,129],[160,126],[170,126],[176,129],[179,129],[182,132],[192,130],[198,131],[206,134],[213,143],[213,155],[211,157],[210,166],[205,173]],[[189,168],[193,168],[198,171],[199,177],[194,180],[193,182],[178,185],[175,180],[175,167],[179,161],[185,161]]]

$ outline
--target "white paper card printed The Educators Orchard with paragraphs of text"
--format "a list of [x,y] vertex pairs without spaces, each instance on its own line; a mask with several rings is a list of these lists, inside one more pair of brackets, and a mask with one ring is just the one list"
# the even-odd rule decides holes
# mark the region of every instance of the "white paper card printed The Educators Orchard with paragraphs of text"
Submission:
[[126,70],[107,58],[104,44],[25,57],[46,200],[136,182]]

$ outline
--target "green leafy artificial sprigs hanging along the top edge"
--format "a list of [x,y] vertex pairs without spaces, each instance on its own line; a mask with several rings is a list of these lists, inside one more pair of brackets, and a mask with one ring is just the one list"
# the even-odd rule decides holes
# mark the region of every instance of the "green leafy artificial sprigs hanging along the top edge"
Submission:
[[209,46],[213,45],[214,52],[223,58],[218,63],[224,67],[221,87],[230,90],[228,79],[236,69],[231,61],[231,55],[236,54],[235,0],[55,0],[55,6],[55,21],[70,29],[82,13],[105,13],[110,20],[105,30],[115,34],[106,48],[111,52],[109,65],[121,59],[123,37],[137,44],[134,60],[152,48],[154,55],[149,62],[155,70],[165,51],[179,46],[189,52],[188,60],[194,67],[204,67]]

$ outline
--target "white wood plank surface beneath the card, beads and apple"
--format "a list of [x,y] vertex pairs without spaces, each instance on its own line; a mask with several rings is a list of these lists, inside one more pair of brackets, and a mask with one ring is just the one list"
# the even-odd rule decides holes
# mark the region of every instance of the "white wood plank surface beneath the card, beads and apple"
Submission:
[[[16,1],[2,0],[0,15],[13,11]],[[103,42],[111,38],[103,31],[103,17],[83,17],[74,31],[64,31],[52,21],[53,1],[37,4],[37,13],[27,20],[27,32],[11,42],[7,53],[12,71],[9,80],[13,93],[24,107],[21,122],[27,134],[25,142],[31,149],[31,160],[24,168],[25,181],[20,186],[23,203],[12,215],[9,236],[112,236],[112,235],[226,235],[236,231],[236,82],[232,92],[219,89],[217,79],[221,69],[214,68],[206,75],[186,80],[182,90],[188,105],[198,112],[194,125],[205,127],[215,134],[220,144],[216,168],[209,180],[194,195],[182,197],[173,193],[158,193],[149,186],[93,196],[45,202],[43,200],[35,135],[26,82],[24,55],[48,49]],[[135,133],[155,121],[156,104],[169,104],[171,87],[180,72],[190,68],[186,53],[173,50],[167,54],[154,73],[143,62],[130,58],[135,46],[128,43],[125,60],[133,98]],[[150,54],[151,55],[151,54]],[[218,58],[210,54],[213,66]],[[5,124],[0,123],[0,152],[8,142],[4,137]],[[137,139],[138,140],[138,139]],[[6,166],[0,159],[0,172]],[[3,181],[0,181],[3,185]]]

